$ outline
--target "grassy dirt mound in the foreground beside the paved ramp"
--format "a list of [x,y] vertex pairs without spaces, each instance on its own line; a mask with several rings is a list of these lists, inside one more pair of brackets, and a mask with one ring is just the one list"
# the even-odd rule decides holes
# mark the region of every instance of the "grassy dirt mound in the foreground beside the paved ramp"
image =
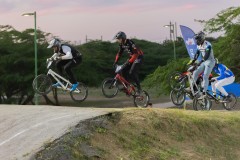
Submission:
[[[42,151],[38,155],[66,160],[240,159],[239,111],[127,108],[82,122],[78,127],[86,127],[90,132],[77,135],[72,131],[46,147],[48,151],[52,148],[52,152]],[[62,155],[54,152],[59,146],[64,146],[58,149]],[[91,150],[95,154],[86,154]],[[57,158],[54,153],[58,153]]]

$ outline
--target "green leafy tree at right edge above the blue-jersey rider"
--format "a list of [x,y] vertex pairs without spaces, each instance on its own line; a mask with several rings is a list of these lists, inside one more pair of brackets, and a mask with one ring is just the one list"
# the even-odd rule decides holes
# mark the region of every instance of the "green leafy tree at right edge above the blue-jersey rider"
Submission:
[[224,32],[213,44],[214,53],[220,62],[227,65],[239,80],[240,77],[240,7],[230,7],[205,22],[205,30]]

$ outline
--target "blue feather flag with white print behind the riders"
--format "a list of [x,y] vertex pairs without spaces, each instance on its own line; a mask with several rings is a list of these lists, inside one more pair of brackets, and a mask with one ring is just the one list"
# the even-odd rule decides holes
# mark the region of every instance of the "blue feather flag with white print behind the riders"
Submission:
[[180,25],[180,29],[182,32],[183,40],[187,47],[188,54],[191,59],[194,58],[194,55],[197,51],[197,43],[195,41],[195,33],[188,27]]

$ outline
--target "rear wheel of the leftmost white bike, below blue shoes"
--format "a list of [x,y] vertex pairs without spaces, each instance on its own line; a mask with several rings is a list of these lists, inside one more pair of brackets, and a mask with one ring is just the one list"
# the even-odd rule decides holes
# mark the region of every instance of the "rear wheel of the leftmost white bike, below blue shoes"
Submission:
[[75,102],[82,102],[88,96],[88,88],[85,84],[79,82],[75,91],[70,92],[70,96]]

